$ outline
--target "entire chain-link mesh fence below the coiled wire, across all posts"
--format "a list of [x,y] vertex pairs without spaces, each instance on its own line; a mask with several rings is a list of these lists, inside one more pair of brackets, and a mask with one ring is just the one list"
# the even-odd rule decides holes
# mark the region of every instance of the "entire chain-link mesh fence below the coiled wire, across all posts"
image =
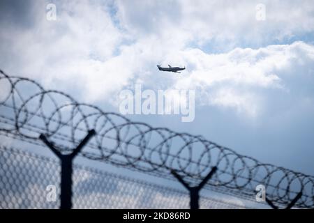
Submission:
[[[59,208],[60,163],[0,147],[0,208]],[[53,194],[55,193],[55,194]],[[75,164],[73,208],[189,208],[188,192]],[[200,197],[200,208],[244,208]]]

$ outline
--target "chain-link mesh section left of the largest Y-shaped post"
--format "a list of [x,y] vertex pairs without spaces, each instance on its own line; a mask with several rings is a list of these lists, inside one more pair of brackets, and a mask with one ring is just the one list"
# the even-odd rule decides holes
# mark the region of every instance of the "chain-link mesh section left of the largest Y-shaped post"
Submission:
[[[47,157],[0,148],[0,207],[57,208],[47,202],[47,185],[60,184],[60,165]],[[58,197],[58,196],[57,196]]]

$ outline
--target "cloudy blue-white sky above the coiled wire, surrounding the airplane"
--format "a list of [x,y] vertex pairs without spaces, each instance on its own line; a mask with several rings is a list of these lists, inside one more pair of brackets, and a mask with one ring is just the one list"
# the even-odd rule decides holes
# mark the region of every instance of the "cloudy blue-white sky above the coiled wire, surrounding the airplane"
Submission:
[[128,118],[313,175],[314,1],[1,0],[0,26],[10,75],[117,113],[119,93],[135,84],[193,90],[190,123]]

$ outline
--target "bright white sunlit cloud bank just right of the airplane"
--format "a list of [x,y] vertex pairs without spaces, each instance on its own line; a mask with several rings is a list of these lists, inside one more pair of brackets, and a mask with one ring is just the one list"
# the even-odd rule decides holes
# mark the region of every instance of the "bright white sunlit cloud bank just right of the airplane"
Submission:
[[256,117],[271,109],[272,101],[282,103],[279,98],[283,95],[285,101],[295,104],[314,93],[309,84],[313,82],[313,45],[295,42],[236,48],[225,54],[187,49],[181,54],[189,73],[174,82],[174,88],[197,89],[201,105],[231,107]]

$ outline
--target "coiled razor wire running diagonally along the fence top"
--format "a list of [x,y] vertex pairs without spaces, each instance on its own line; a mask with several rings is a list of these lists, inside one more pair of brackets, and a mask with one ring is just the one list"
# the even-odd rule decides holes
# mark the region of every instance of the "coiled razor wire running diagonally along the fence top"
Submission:
[[211,187],[234,194],[255,194],[262,184],[267,198],[287,205],[299,194],[294,206],[314,208],[314,177],[273,164],[264,164],[200,135],[153,128],[133,122],[114,112],[77,102],[61,91],[46,91],[25,77],[13,77],[0,70],[0,131],[38,141],[40,134],[70,153],[89,130],[95,136],[81,155],[91,160],[154,173],[165,177],[174,170],[190,184],[197,184],[217,167],[208,181]]

